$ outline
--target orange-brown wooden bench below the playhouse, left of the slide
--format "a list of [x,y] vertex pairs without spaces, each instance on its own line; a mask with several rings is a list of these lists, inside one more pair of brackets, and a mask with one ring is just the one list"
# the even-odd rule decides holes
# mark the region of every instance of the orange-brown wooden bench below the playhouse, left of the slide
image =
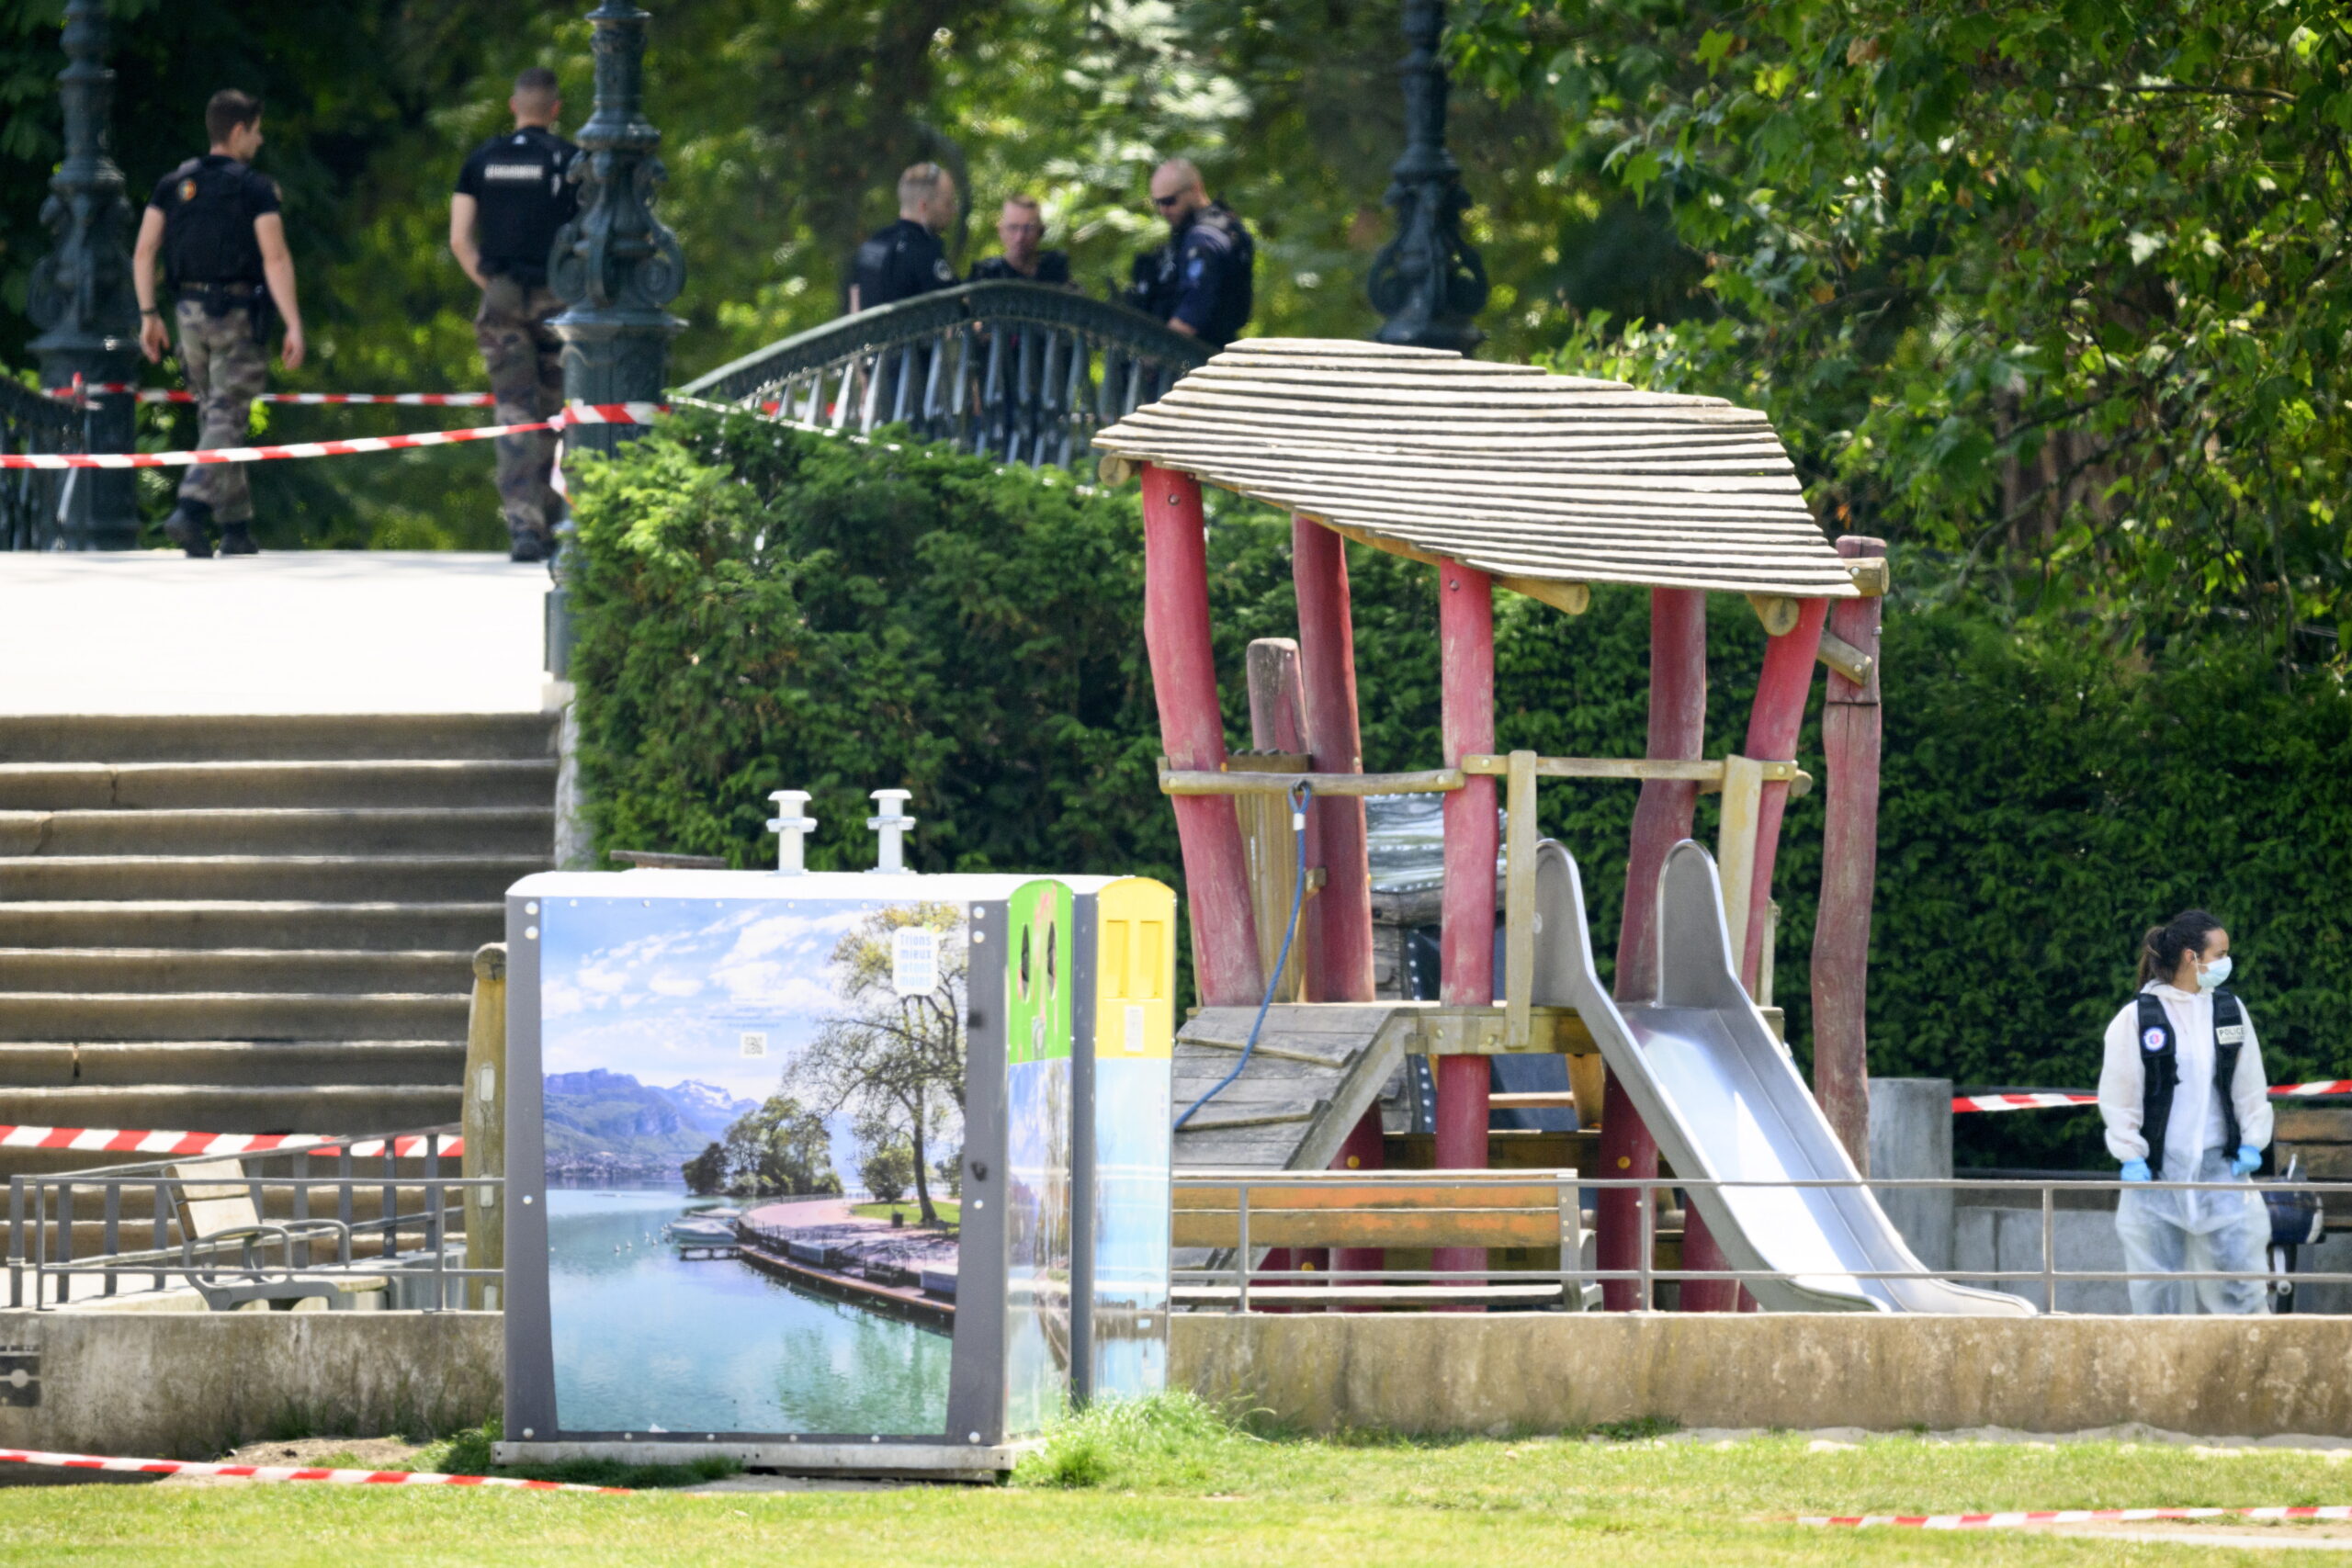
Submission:
[[[1247,1197],[1247,1237],[1244,1237]],[[1329,1307],[1564,1307],[1583,1309],[1583,1244],[1590,1215],[1578,1208],[1576,1171],[1185,1171],[1174,1192],[1176,1248],[1209,1248],[1211,1269],[1235,1269],[1247,1246],[1263,1267],[1268,1248],[1489,1248],[1484,1281],[1388,1281],[1348,1267],[1331,1284],[1251,1284],[1249,1305]],[[1661,1213],[1661,1234],[1672,1211]],[[1503,1267],[1496,1253],[1557,1251],[1555,1269]],[[1406,1267],[1390,1258],[1390,1267]],[[1428,1265],[1414,1265],[1428,1269]],[[1235,1284],[1178,1284],[1190,1307],[1242,1305]]]

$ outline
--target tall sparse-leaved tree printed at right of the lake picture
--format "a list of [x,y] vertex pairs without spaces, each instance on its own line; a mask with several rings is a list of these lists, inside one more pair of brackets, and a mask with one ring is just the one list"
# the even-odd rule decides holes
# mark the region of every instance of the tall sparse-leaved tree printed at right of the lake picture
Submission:
[[[938,1222],[927,1147],[941,1131],[962,1126],[964,1110],[969,957],[962,924],[962,910],[948,903],[894,905],[858,922],[833,950],[833,990],[847,1011],[826,1018],[793,1063],[797,1081],[833,1105],[856,1107],[866,1128],[906,1140],[924,1225]],[[938,943],[934,990],[896,990],[901,931],[924,931]]]

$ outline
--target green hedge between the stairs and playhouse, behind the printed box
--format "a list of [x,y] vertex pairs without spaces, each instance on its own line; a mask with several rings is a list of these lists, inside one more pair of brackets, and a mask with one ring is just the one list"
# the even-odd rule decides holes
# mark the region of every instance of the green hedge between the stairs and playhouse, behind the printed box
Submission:
[[868,790],[915,792],[917,870],[1171,875],[1136,635],[1134,496],[929,447],[689,414],[581,463],[581,766],[600,844],[771,865],[814,792],[816,870],[873,863]]

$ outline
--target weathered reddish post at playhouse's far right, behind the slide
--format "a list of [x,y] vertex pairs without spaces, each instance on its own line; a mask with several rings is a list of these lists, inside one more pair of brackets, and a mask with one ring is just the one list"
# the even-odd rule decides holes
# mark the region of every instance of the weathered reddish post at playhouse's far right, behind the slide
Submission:
[[[1886,541],[1846,536],[1849,559]],[[1820,830],[1820,917],[1813,922],[1813,1098],[1863,1175],[1870,1175],[1870,896],[1879,872],[1879,611],[1884,599],[1837,599],[1830,632],[1870,658],[1870,677],[1828,677],[1820,752],[1828,773]]]

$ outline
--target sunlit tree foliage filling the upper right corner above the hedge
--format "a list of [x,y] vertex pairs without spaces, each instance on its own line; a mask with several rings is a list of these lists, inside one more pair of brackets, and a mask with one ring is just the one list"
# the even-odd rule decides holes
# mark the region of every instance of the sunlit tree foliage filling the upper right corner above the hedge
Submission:
[[2352,28],[2324,0],[1482,0],[1463,61],[1705,259],[1564,364],[1771,411],[1823,517],[2340,658]]

